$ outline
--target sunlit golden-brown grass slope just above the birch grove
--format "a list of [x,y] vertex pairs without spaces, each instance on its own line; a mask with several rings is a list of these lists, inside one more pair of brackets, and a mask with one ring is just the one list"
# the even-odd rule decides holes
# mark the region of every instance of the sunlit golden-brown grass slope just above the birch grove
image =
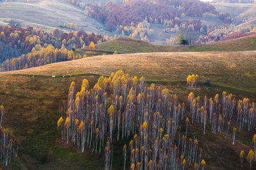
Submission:
[[125,73],[145,76],[147,80],[186,80],[196,73],[200,81],[256,91],[256,51],[248,52],[173,52],[100,55],[85,59],[58,62],[3,74],[59,76],[106,74],[122,69]]

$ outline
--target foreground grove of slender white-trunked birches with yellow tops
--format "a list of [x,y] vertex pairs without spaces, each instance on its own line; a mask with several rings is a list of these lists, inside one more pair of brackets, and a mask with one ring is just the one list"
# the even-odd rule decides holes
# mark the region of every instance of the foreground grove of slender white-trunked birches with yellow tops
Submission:
[[167,89],[123,71],[101,76],[92,89],[86,79],[80,89],[73,81],[66,108],[57,123],[62,140],[81,152],[104,153],[105,169],[112,168],[113,140],[131,138],[123,148],[124,169],[127,164],[130,169],[205,169],[203,150],[189,127],[202,128],[204,135],[223,132],[236,145],[236,132],[251,132],[256,123],[255,103],[247,98],[236,101],[223,92],[209,99],[191,92],[180,103]]

